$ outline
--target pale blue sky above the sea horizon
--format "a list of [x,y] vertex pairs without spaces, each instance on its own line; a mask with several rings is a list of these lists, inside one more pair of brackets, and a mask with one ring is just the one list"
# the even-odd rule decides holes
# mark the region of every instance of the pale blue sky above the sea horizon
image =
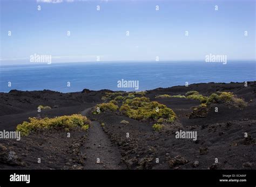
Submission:
[[2,64],[35,53],[52,62],[255,59],[254,0],[0,1]]

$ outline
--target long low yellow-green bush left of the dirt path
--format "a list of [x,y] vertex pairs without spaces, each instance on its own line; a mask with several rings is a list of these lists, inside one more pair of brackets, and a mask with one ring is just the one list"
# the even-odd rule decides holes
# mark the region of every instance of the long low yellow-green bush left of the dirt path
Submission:
[[81,114],[73,114],[71,116],[60,116],[55,118],[29,118],[22,124],[17,125],[16,131],[20,131],[22,135],[29,135],[37,130],[47,130],[51,128],[63,128],[69,130],[74,127],[81,127],[87,130],[90,125],[90,120]]

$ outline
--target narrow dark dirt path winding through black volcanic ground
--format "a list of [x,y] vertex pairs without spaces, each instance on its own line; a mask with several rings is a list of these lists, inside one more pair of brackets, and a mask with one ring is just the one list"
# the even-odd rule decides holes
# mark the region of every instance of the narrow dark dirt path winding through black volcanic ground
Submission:
[[[91,108],[85,109],[82,115],[86,116]],[[88,136],[82,152],[86,154],[84,169],[126,169],[120,164],[121,155],[104,133],[98,121],[91,121]]]

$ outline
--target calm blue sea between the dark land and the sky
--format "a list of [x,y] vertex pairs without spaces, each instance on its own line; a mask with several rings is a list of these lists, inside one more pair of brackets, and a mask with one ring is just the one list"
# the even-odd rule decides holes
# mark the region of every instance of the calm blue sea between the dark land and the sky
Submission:
[[[139,81],[139,90],[185,85],[185,82],[255,81],[255,61],[206,62],[93,62],[1,66],[0,92],[55,90],[60,92],[118,88],[119,80]],[[8,87],[11,82],[11,87]],[[67,87],[70,82],[70,87]]]

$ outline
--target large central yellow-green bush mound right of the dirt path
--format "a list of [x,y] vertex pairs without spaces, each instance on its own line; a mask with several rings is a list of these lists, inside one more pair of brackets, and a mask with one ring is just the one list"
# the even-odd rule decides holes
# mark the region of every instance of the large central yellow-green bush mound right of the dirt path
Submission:
[[167,123],[171,123],[176,119],[176,114],[166,105],[150,102],[149,98],[146,97],[126,99],[119,111],[125,116],[136,120],[150,119],[157,121],[163,118]]

